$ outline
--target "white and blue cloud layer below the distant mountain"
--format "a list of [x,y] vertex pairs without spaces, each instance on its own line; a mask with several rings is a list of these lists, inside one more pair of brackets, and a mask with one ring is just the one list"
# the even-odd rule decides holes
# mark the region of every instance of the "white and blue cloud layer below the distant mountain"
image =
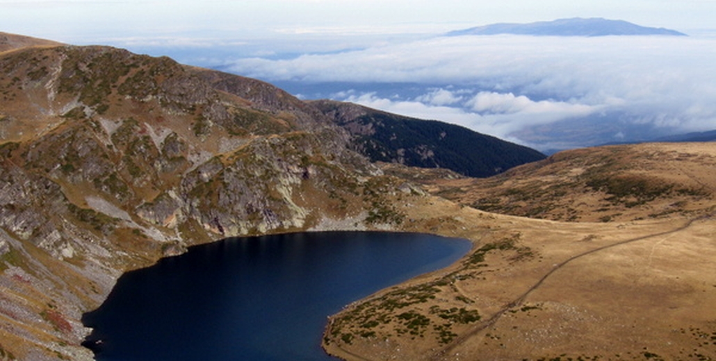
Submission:
[[[288,60],[239,59],[229,69],[268,81],[376,84],[379,92],[347,88],[332,97],[543,148],[549,130],[529,138],[534,132],[526,129],[569,127],[569,119],[623,124],[614,140],[635,139],[629,132],[645,127],[664,134],[716,129],[716,39],[437,37]],[[390,84],[415,84],[418,94],[392,94]],[[582,145],[592,144],[566,146]]]

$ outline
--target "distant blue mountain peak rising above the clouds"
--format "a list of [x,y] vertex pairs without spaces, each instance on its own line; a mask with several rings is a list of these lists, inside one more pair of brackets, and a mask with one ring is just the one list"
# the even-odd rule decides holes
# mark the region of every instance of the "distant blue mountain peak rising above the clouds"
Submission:
[[664,35],[687,36],[679,31],[639,26],[624,20],[602,18],[571,18],[538,21],[529,24],[500,23],[450,31],[448,36],[516,34],[531,36],[629,36]]

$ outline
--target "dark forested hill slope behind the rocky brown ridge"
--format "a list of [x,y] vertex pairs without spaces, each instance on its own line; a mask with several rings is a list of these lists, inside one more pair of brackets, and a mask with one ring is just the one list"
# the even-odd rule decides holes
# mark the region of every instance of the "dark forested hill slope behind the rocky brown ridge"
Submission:
[[328,100],[310,104],[346,129],[351,134],[352,149],[372,162],[445,168],[468,177],[489,177],[545,157],[534,149],[454,124]]

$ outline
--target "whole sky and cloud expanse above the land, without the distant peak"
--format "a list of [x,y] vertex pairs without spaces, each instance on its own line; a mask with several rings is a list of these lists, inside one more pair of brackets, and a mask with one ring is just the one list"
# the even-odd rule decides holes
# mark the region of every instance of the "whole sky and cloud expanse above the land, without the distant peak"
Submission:
[[[546,151],[716,129],[716,0],[0,0],[0,31],[107,44]],[[689,37],[440,36],[622,19]]]

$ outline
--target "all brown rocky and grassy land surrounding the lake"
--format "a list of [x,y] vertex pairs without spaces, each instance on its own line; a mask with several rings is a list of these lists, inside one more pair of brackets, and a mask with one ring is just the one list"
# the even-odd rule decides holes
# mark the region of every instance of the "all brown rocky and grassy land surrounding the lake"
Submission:
[[471,178],[371,162],[335,114],[262,81],[3,36],[0,359],[92,360],[79,320],[130,269],[324,230],[473,242],[330,317],[323,346],[346,360],[716,359],[711,143],[500,144],[537,159]]

